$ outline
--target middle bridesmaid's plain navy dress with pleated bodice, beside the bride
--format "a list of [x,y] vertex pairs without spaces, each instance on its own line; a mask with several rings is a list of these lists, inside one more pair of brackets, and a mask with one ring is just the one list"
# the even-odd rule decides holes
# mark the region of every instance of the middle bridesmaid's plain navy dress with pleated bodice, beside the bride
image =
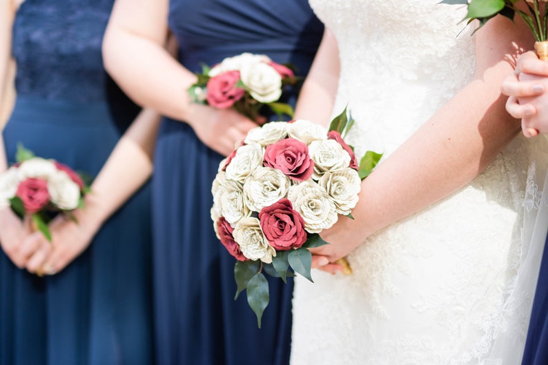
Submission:
[[[251,52],[293,63],[304,76],[323,34],[306,0],[172,0],[168,21],[179,61],[193,72]],[[295,92],[283,100],[294,104]],[[288,364],[293,283],[271,280],[260,329],[245,293],[234,300],[235,259],[210,215],[222,158],[188,124],[162,122],[153,176],[157,362]]]

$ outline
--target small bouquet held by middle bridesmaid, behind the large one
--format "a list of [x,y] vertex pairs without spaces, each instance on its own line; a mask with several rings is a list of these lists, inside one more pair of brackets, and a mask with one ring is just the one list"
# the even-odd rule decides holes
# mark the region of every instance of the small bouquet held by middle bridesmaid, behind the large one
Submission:
[[293,117],[293,108],[277,102],[286,85],[294,85],[299,78],[293,70],[275,63],[265,55],[242,55],[228,57],[209,68],[203,66],[198,80],[188,89],[193,101],[207,103],[215,108],[230,108],[252,120],[259,110],[268,106],[277,115]]

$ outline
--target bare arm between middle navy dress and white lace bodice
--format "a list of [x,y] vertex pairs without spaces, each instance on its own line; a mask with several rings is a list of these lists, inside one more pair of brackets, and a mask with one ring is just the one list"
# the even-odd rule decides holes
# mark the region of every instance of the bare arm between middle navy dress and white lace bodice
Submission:
[[324,37],[310,72],[302,85],[295,106],[295,119],[308,119],[329,126],[339,82],[340,61],[337,40],[329,29]]

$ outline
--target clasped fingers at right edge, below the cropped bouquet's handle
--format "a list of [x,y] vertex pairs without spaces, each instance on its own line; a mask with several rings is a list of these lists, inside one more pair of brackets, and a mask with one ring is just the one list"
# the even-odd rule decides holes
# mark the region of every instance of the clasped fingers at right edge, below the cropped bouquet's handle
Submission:
[[534,52],[521,55],[516,70],[502,83],[501,91],[508,95],[506,109],[521,119],[523,135],[535,137],[548,132],[548,62]]

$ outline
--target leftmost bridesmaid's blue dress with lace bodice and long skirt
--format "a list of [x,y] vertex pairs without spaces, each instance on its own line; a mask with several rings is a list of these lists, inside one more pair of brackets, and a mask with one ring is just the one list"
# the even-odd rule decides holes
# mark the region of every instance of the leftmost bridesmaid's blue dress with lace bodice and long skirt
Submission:
[[[108,79],[101,41],[113,0],[27,0],[17,12],[17,101],[3,130],[95,177],[138,108]],[[61,273],[37,277],[0,253],[0,364],[150,365],[150,188]]]

